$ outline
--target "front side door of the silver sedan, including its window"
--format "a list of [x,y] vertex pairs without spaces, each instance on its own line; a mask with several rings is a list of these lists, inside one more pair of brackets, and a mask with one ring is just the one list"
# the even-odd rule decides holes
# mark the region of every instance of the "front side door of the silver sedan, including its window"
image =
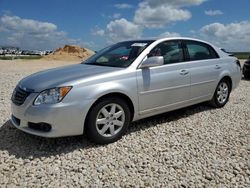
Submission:
[[182,105],[190,97],[190,73],[180,41],[165,41],[149,53],[163,56],[164,65],[137,70],[140,115]]

